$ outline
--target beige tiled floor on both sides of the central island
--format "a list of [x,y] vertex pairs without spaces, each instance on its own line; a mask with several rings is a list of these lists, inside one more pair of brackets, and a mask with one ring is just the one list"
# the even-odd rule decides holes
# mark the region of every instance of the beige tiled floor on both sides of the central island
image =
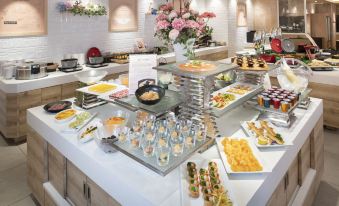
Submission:
[[[26,183],[26,143],[0,137],[0,206],[36,206]],[[313,206],[339,206],[339,130],[325,130],[325,173]]]

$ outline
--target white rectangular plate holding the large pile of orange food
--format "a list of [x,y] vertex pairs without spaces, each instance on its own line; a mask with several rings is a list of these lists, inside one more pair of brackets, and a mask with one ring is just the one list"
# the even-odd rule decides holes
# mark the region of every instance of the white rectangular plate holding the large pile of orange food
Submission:
[[265,162],[260,158],[260,151],[258,150],[258,148],[255,146],[255,144],[253,143],[253,141],[251,141],[251,139],[249,138],[235,138],[235,137],[229,137],[229,138],[233,138],[233,139],[245,139],[252,152],[253,152],[253,155],[255,156],[255,158],[257,158],[257,160],[259,161],[259,163],[262,165],[263,167],[263,170],[262,171],[256,171],[256,172],[235,172],[231,169],[231,166],[228,164],[227,162],[227,157],[226,157],[226,154],[224,152],[224,146],[222,145],[221,141],[224,139],[225,137],[222,137],[222,138],[216,138],[215,141],[217,143],[217,148],[218,148],[218,151],[219,151],[219,154],[220,154],[220,157],[221,157],[221,160],[226,168],[226,172],[228,174],[262,174],[262,173],[269,173],[271,172],[271,169],[269,169],[270,167],[268,165],[265,164]]

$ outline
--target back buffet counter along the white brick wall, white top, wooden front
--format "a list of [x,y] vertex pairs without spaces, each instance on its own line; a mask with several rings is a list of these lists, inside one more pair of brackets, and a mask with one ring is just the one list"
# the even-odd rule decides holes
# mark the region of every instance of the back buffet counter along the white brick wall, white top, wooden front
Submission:
[[[196,55],[204,60],[220,60],[227,58],[227,47],[207,47],[197,49]],[[174,53],[158,55],[168,63],[175,60]],[[34,80],[3,80],[0,79],[0,134],[6,139],[20,142],[26,138],[26,110],[61,99],[75,96],[79,82],[74,74],[92,70],[83,66],[82,71],[73,73],[51,72],[47,77]],[[128,64],[109,64],[109,66],[93,70],[105,70],[105,80],[117,79],[122,73],[128,72]]]

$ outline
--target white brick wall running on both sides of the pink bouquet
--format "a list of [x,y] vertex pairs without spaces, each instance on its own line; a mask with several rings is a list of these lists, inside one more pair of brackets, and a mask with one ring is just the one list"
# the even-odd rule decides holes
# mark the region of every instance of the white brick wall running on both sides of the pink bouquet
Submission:
[[[144,38],[149,46],[160,45],[154,40],[155,17],[145,15],[149,2],[154,6],[165,0],[138,0],[138,32],[108,32],[108,17],[80,17],[60,14],[56,4],[61,0],[48,0],[48,35],[42,37],[0,38],[0,60],[33,59],[38,61],[59,61],[67,53],[86,53],[96,46],[101,51],[126,51],[133,48],[135,38]],[[100,2],[108,8],[108,0]],[[241,50],[246,42],[246,32],[253,26],[252,0],[247,11],[249,28],[236,27],[237,0],[193,0],[197,10],[215,12],[217,18],[209,24],[214,27],[213,38],[228,43],[231,54]]]

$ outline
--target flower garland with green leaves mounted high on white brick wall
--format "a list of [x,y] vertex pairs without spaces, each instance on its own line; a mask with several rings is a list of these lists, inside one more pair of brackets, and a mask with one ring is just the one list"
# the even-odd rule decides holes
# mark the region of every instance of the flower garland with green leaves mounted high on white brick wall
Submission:
[[105,16],[107,14],[106,7],[103,5],[97,4],[87,4],[86,6],[82,5],[81,1],[75,1],[75,3],[59,2],[57,4],[57,9],[60,13],[69,12],[75,15],[80,16]]

